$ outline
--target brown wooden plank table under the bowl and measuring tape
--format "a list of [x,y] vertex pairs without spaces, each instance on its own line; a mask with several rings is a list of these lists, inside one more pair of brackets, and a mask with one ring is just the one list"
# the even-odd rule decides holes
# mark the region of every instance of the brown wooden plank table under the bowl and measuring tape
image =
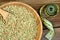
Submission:
[[[1,0],[1,1],[10,1],[10,0]],[[24,2],[24,3],[32,6],[37,12],[39,11],[39,8],[44,4],[57,3],[59,5],[59,3],[60,3],[60,0],[18,0],[18,1]],[[55,17],[52,17],[52,18],[46,17],[46,18],[48,20],[50,20],[54,25],[55,36],[52,40],[60,40],[60,13],[58,13],[57,16],[55,16]],[[45,26],[43,26],[43,27],[44,27],[44,29],[43,29],[44,31],[43,31],[43,36],[42,36],[41,40],[47,40],[45,38],[45,35],[48,32],[48,30],[45,28]]]

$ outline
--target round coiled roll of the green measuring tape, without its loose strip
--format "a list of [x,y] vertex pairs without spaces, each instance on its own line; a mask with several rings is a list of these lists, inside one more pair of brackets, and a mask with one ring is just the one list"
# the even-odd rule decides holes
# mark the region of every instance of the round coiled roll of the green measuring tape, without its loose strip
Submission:
[[54,16],[57,14],[57,6],[55,4],[48,4],[45,7],[45,12],[49,16]]

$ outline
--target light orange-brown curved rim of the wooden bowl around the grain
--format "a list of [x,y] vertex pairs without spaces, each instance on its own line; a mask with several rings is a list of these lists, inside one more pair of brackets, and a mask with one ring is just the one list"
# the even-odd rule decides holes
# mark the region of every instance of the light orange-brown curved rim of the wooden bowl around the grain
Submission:
[[38,15],[38,13],[36,12],[36,10],[34,10],[31,6],[29,6],[29,5],[27,5],[27,4],[23,3],[23,2],[15,2],[15,1],[13,1],[13,2],[7,2],[5,4],[2,4],[0,6],[0,8],[3,8],[5,6],[7,6],[7,5],[22,5],[22,6],[27,7],[29,10],[33,11],[36,14],[37,20],[39,20],[39,24],[38,24],[39,27],[38,27],[38,33],[37,33],[37,36],[36,36],[35,40],[41,40],[42,33],[43,33],[43,26],[42,26],[41,18]]

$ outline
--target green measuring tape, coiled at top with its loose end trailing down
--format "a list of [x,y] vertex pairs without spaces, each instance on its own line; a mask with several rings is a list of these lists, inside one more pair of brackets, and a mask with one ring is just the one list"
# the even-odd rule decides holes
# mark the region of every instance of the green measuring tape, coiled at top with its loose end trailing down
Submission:
[[45,15],[50,16],[55,16],[58,12],[59,12],[59,7],[56,4],[47,4],[47,5],[43,5],[40,10],[40,16],[42,19],[43,24],[48,28],[49,32],[46,34],[46,38],[48,40],[52,40],[53,36],[54,36],[54,29],[53,29],[53,24],[47,20],[46,18],[44,18],[44,16],[42,14],[45,13]]

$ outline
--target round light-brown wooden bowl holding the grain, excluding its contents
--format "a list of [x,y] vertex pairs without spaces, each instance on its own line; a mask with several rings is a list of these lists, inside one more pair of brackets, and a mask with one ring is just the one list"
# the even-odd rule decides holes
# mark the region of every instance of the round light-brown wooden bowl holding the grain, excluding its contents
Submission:
[[3,4],[0,6],[0,8],[4,8],[5,6],[8,6],[8,5],[19,5],[19,6],[23,6],[23,7],[26,7],[27,9],[29,9],[31,12],[33,12],[33,15],[35,16],[36,18],[36,21],[38,23],[38,29],[37,29],[37,35],[36,35],[36,40],[41,40],[41,37],[42,37],[42,32],[43,32],[43,29],[42,29],[42,22],[41,22],[41,18],[40,16],[38,15],[38,13],[29,5],[27,4],[24,4],[24,3],[21,3],[21,2],[8,2],[6,4]]

